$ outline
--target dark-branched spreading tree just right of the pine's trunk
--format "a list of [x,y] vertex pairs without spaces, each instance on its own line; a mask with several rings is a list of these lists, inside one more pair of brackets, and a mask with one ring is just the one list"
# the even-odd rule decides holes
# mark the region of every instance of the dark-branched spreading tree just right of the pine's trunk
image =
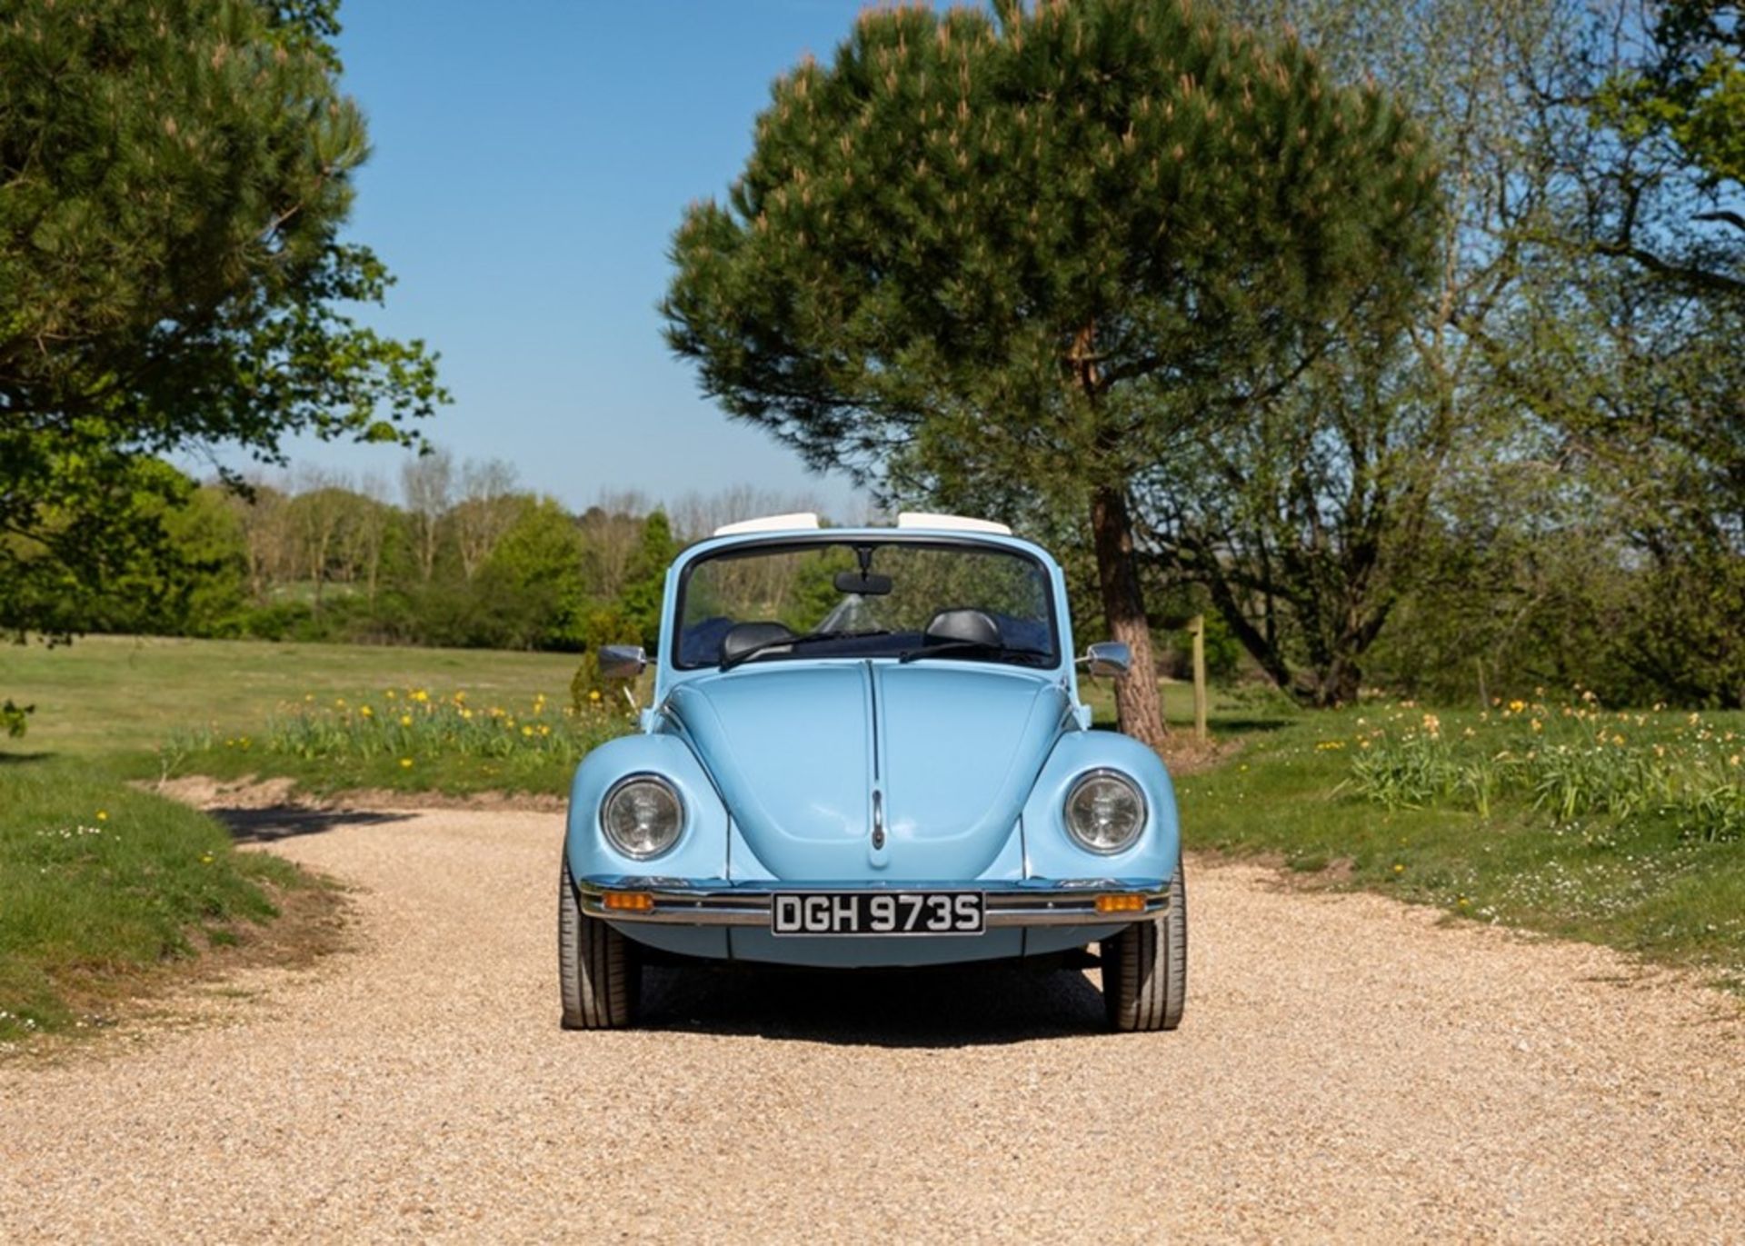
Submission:
[[1333,351],[1141,478],[1146,557],[1204,585],[1272,682],[1316,705],[1356,698],[1464,426],[1403,356],[1391,337]]

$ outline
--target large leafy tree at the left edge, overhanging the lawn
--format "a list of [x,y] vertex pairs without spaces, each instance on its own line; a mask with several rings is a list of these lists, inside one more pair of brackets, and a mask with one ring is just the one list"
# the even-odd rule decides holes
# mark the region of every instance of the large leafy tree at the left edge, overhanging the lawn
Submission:
[[[162,546],[138,464],[415,442],[435,356],[358,325],[335,0],[19,0],[0,21],[0,623]],[[147,480],[150,473],[147,473]],[[161,494],[164,501],[169,494]]]

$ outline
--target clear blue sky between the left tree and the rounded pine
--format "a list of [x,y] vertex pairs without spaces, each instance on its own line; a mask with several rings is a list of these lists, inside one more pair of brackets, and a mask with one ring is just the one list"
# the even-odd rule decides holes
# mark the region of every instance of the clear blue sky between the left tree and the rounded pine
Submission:
[[[585,508],[752,483],[853,506],[731,424],[654,311],[686,202],[750,152],[770,82],[827,59],[860,0],[346,0],[344,86],[370,120],[351,234],[400,277],[368,321],[441,351],[457,457],[501,457]],[[297,442],[398,480],[403,452]]]

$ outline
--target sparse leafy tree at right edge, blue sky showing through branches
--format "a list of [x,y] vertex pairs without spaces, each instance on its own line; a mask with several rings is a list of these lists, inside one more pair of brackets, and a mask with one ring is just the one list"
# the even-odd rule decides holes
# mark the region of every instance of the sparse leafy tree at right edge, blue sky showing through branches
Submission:
[[1740,40],[1736,3],[1618,0],[1536,66],[1536,288],[1487,342],[1569,487],[1605,499],[1633,592],[1604,656],[1719,705],[1745,703]]

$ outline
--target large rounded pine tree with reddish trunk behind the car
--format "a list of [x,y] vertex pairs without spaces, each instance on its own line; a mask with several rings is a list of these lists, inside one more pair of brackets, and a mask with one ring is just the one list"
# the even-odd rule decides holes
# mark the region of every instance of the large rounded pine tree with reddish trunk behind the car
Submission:
[[996,9],[872,10],[777,80],[728,201],[677,230],[668,340],[811,466],[1084,515],[1141,672],[1120,721],[1157,743],[1134,480],[1410,293],[1433,157],[1208,7]]

